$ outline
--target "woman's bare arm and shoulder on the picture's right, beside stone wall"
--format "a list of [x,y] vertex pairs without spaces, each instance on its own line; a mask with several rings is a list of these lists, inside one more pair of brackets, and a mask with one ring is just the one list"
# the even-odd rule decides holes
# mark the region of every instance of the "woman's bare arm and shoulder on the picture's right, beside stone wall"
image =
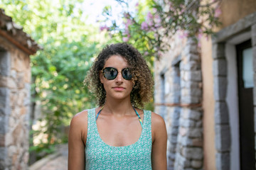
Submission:
[[166,170],[166,145],[167,132],[164,119],[156,113],[152,113],[152,169]]

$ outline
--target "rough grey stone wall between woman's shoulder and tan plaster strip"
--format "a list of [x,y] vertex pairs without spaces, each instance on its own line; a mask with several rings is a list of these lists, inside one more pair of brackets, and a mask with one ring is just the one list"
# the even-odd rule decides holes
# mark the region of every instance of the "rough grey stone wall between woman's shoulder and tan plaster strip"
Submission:
[[203,169],[201,60],[198,45],[177,35],[155,62],[155,112],[166,120],[168,169]]

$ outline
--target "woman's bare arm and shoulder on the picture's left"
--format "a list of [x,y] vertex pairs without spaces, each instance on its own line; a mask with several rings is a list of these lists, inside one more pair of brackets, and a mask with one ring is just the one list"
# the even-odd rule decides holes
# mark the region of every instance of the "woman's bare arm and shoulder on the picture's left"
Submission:
[[87,137],[87,111],[73,117],[68,135],[68,170],[85,169],[85,142]]

